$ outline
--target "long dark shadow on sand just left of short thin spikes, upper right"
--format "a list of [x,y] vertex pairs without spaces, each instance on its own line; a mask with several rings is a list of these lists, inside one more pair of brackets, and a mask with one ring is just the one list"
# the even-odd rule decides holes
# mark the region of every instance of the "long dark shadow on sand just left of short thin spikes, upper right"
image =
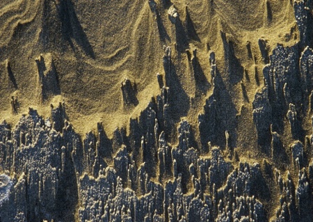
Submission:
[[230,84],[236,84],[243,78],[243,66],[235,55],[234,42],[227,42],[226,34],[223,31],[220,31],[220,35],[223,40],[225,68],[229,74]]

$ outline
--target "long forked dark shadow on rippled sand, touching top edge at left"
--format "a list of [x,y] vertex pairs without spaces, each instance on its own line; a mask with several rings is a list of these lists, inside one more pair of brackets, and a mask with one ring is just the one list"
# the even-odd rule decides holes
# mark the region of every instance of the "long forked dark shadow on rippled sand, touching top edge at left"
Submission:
[[83,31],[79,19],[75,13],[74,5],[71,0],[61,0],[56,4],[58,10],[58,17],[61,20],[61,31],[65,40],[67,40],[74,50],[74,44],[72,38],[77,42],[79,47],[83,49],[85,54],[91,58],[95,58],[93,47],[88,41],[86,33]]

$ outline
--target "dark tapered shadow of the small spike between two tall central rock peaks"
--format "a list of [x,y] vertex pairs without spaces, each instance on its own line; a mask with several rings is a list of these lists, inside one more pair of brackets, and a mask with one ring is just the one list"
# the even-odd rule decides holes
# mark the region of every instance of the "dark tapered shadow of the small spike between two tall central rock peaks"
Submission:
[[191,63],[193,65],[193,75],[195,77],[195,96],[197,97],[202,95],[202,93],[206,95],[211,85],[209,84],[209,81],[207,81],[207,77],[205,77],[205,74],[198,61],[196,49],[193,51],[193,58],[191,59]]

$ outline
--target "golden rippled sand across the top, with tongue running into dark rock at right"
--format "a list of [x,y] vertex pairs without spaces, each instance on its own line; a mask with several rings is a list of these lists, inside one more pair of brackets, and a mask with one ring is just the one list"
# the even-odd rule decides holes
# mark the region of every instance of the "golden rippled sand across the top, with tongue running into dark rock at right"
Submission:
[[[236,119],[236,152],[241,161],[262,162],[266,155],[255,149],[257,130],[252,116],[255,93],[264,87],[266,65],[259,39],[266,42],[268,54],[278,44],[295,45],[300,37],[294,6],[275,0],[173,0],[179,17],[172,24],[170,5],[155,2],[157,10],[146,0],[1,1],[0,122],[14,126],[29,107],[49,118],[50,104],[64,102],[67,120],[81,136],[96,133],[97,122],[103,122],[109,138],[117,127],[129,134],[130,119],[138,118],[160,93],[157,74],[165,74],[163,55],[170,47],[177,83],[174,125],[188,120],[199,142],[198,115],[204,113],[214,89],[209,63],[214,51],[231,104],[224,115]],[[230,51],[225,51],[225,42]],[[200,73],[196,77],[195,49]],[[46,65],[43,73],[50,75],[45,80],[40,80],[36,63],[40,55]],[[226,62],[227,56],[232,63]],[[137,100],[130,105],[125,105],[122,96],[125,79],[134,86]],[[42,88],[44,82],[55,86]],[[15,111],[12,98],[18,102]],[[309,119],[305,116],[303,122]],[[310,134],[309,123],[304,123],[304,129]],[[172,144],[178,143],[175,132],[169,138]],[[284,143],[291,143],[290,135],[287,127]],[[267,161],[275,164],[273,159]],[[288,167],[276,166],[287,172]],[[268,215],[274,214],[273,206],[266,205]]]

